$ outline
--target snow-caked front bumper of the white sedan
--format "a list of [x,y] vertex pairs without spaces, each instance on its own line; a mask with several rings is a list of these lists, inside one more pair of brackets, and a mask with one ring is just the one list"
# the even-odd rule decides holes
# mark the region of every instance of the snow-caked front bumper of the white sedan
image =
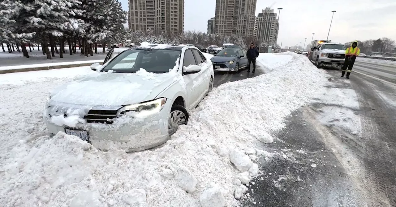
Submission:
[[168,119],[173,101],[168,99],[159,112],[145,117],[121,116],[112,124],[78,123],[75,127],[55,124],[44,113],[50,136],[67,129],[86,131],[89,142],[97,149],[107,151],[110,148],[124,149],[126,152],[141,151],[163,144],[169,138]]

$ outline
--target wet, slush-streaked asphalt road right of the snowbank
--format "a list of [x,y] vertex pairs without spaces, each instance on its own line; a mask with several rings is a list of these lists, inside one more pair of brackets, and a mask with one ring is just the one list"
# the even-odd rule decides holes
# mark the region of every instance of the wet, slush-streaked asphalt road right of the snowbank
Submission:
[[360,117],[360,136],[316,120],[328,103],[301,107],[273,132],[278,139],[265,147],[275,155],[260,160],[263,174],[243,206],[396,207],[396,65],[356,66],[350,80],[326,71],[337,83],[328,87],[356,92],[359,107],[350,110]]

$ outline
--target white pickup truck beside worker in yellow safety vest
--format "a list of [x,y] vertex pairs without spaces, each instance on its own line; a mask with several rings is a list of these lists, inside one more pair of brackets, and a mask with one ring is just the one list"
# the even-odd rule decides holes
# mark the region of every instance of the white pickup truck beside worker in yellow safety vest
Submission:
[[312,51],[311,62],[318,68],[338,67],[345,62],[345,46],[341,43],[322,43]]

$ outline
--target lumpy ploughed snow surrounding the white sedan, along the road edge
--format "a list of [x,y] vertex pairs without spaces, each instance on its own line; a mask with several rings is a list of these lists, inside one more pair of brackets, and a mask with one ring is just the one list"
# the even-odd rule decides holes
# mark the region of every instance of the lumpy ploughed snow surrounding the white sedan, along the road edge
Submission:
[[[305,56],[260,54],[268,73],[214,88],[157,149],[98,151],[42,120],[49,91],[89,67],[0,75],[0,206],[238,206],[272,131],[327,80]],[[227,117],[227,118],[225,118]]]

